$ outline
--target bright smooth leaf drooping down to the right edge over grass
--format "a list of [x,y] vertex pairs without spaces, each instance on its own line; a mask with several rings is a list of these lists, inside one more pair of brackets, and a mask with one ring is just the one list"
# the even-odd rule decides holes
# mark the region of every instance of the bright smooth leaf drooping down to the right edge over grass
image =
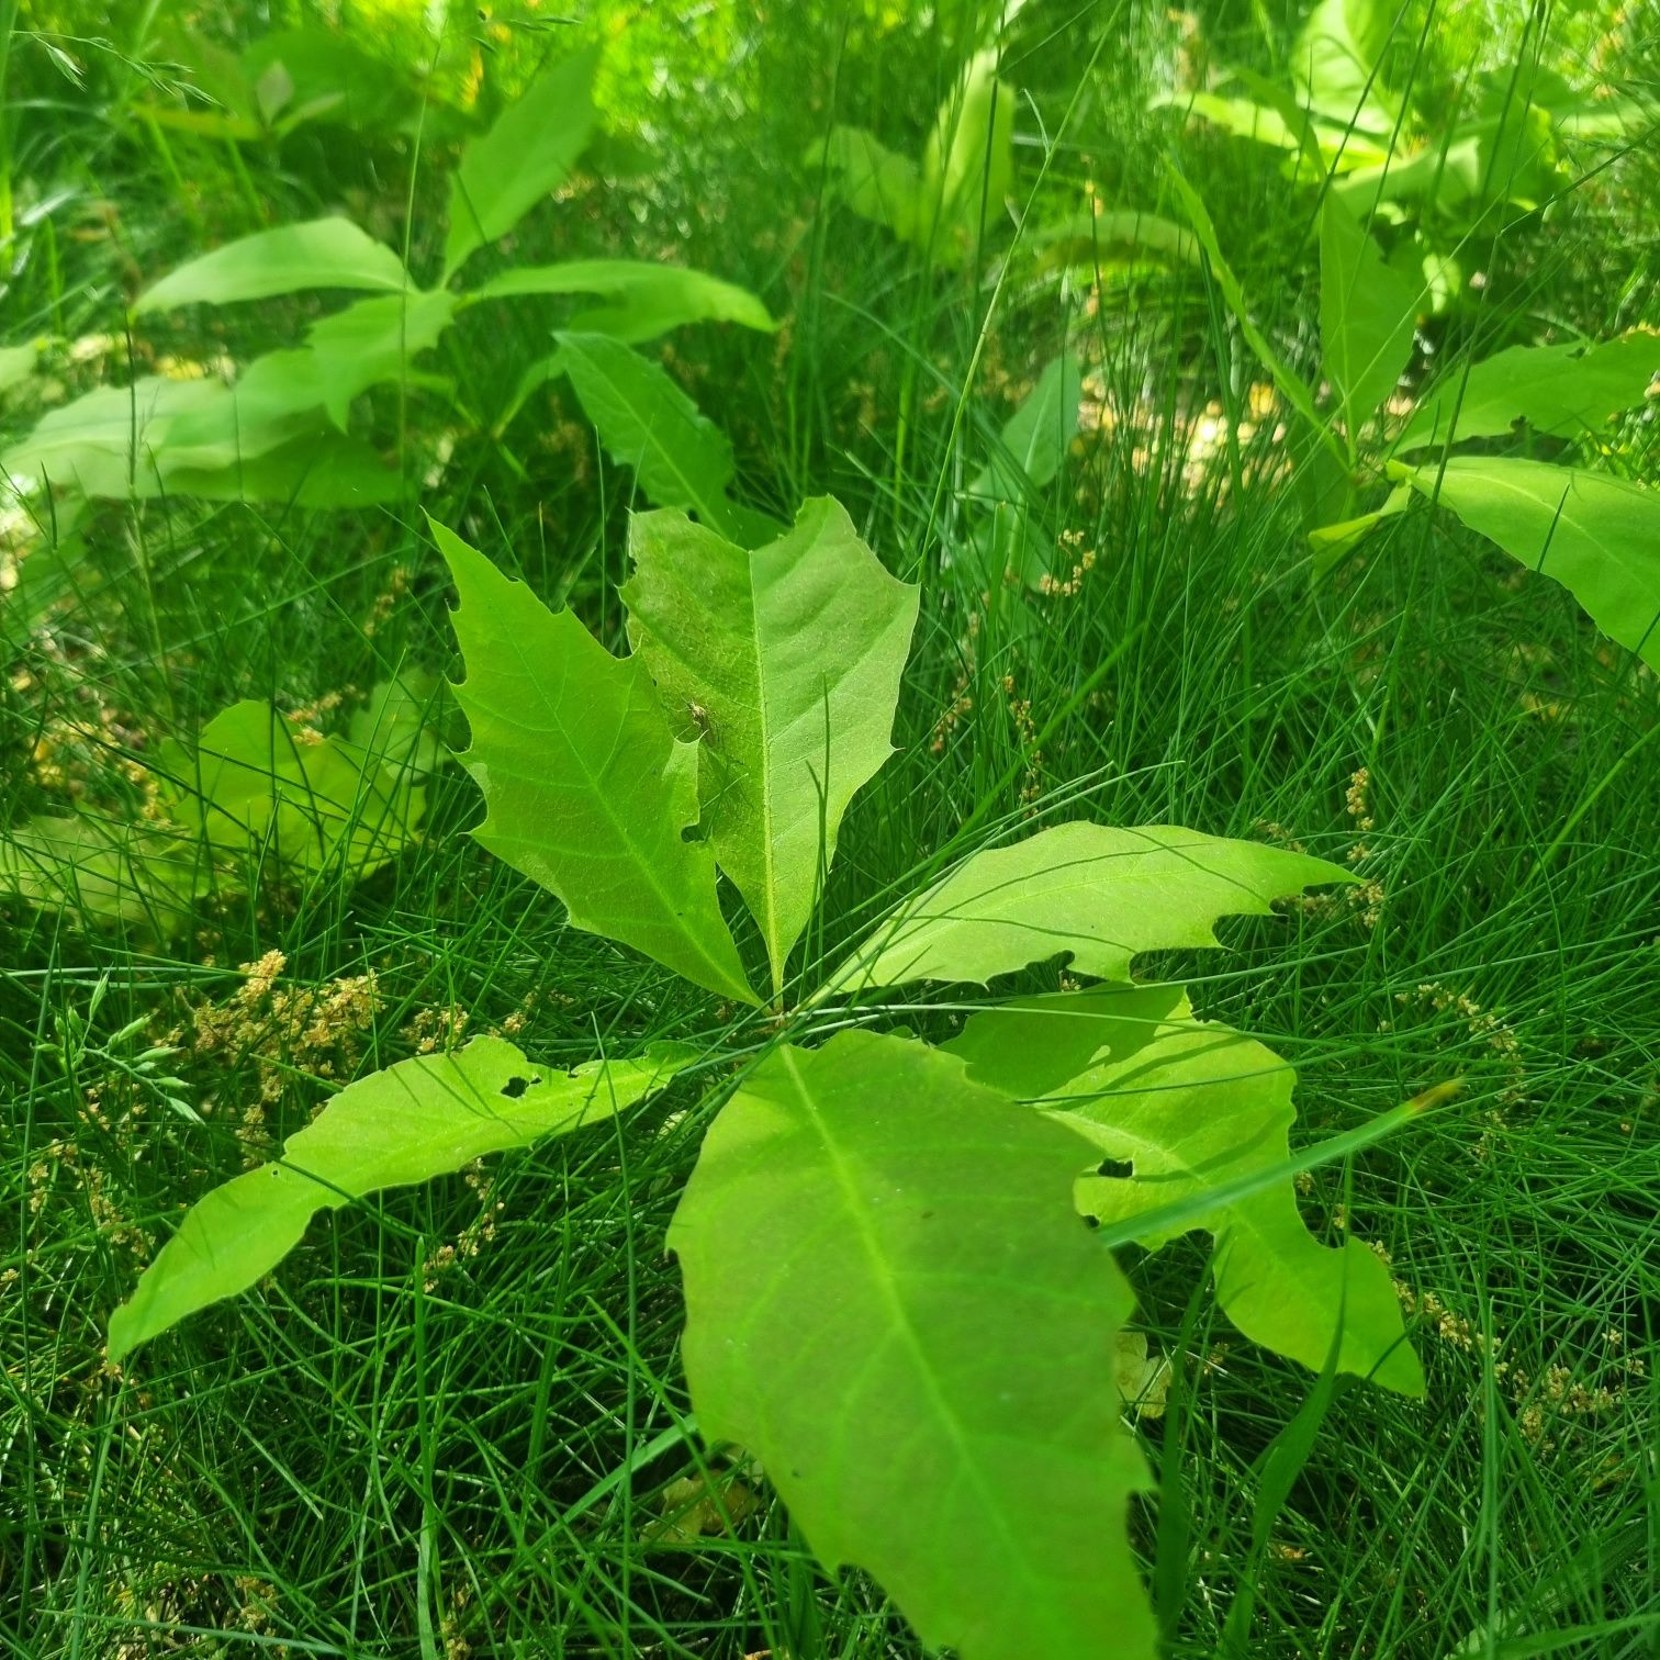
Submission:
[[1660,669],[1660,491],[1487,456],[1403,471],[1419,495],[1560,583],[1604,634]]

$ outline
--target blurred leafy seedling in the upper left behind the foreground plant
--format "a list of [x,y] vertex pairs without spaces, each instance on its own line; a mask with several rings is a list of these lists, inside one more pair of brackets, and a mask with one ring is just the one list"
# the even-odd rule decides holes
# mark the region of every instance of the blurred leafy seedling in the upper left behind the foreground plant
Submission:
[[[458,310],[536,294],[593,294],[609,304],[571,319],[561,350],[526,372],[526,387],[568,372],[584,412],[616,458],[639,470],[642,488],[735,526],[737,510],[725,501],[727,440],[657,365],[619,354],[616,342],[649,340],[712,317],[770,329],[754,295],[701,272],[634,261],[518,266],[471,290],[452,287],[480,247],[505,237],[569,174],[594,126],[596,63],[594,51],[554,63],[461,151],[450,176],[437,287],[417,287],[390,247],[344,217],[241,237],[153,282],[133,315],[319,289],[370,297],[312,324],[304,345],[254,359],[231,385],[214,377],[144,377],[131,388],[90,392],[48,413],[0,456],[0,466],[20,486],[60,485],[86,496],[204,495],[315,506],[388,500],[402,493],[403,475],[350,438],[354,402],[390,383],[400,398],[413,388],[452,402],[460,395],[465,408],[460,387],[413,367]],[[525,395],[498,417],[498,433]]]

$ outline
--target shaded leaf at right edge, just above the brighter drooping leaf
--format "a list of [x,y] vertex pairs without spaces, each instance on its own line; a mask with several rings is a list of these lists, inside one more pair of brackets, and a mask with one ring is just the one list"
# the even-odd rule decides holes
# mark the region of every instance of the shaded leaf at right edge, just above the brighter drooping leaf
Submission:
[[1443,375],[1398,452],[1504,437],[1516,422],[1557,438],[1595,432],[1617,410],[1643,402],[1660,375],[1660,334],[1633,329],[1600,345],[1512,345]]

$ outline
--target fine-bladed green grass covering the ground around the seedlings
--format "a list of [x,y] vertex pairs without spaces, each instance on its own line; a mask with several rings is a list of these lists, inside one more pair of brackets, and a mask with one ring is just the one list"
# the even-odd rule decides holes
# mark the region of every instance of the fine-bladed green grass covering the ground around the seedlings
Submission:
[[[131,51],[141,13],[96,10],[0,10],[3,334],[105,335],[86,362],[55,349],[68,385],[118,380],[129,355],[143,369],[146,354],[294,334],[304,302],[128,340],[124,299],[198,247],[335,209],[402,241],[405,201],[442,199],[442,133],[428,148],[315,128],[234,153],[158,134],[138,115],[166,93],[166,71]],[[1194,10],[1189,23],[1142,0],[1034,0],[1004,70],[1026,91],[1016,198],[1076,208],[1094,189],[1157,208],[1180,153],[1258,320],[1310,364],[1311,198],[1267,153],[1144,108],[1182,51],[1272,71],[1298,13]],[[1202,1013],[1295,1059],[1305,1135],[1464,1082],[1452,1107],[1305,1194],[1316,1230],[1351,1227],[1389,1253],[1431,1383],[1421,1403],[1345,1386],[1260,1550],[1253,1466],[1313,1379],[1192,1298],[1197,1245],[1134,1265],[1140,1321],[1182,1378],[1170,1413],[1142,1424],[1162,1492],[1139,1539],[1170,1652],[1217,1653],[1252,1584],[1248,1653],[1653,1653],[1660,687],[1559,588],[1446,518],[1394,521],[1311,591],[1273,423],[1189,455],[1205,405],[1238,413],[1262,378],[1197,276],[1137,272],[1094,300],[999,289],[1008,229],[969,269],[925,271],[818,203],[802,156],[832,120],[915,153],[973,40],[968,12],[593,7],[568,33],[613,43],[606,113],[624,159],[538,209],[513,257],[672,257],[755,287],[787,319],[780,337],[684,330],[676,372],[734,433],[749,500],[788,511],[833,491],[923,583],[900,754],[848,817],[813,954],[971,818],[974,840],[1091,815],[1295,838],[1338,860],[1361,847],[1381,883],[1371,918],[1316,903],[1159,964],[1194,979]],[[1539,23],[1567,71],[1655,90],[1657,13],[1618,13],[1559,5]],[[241,40],[314,15],[201,20]],[[412,60],[433,50],[413,12],[342,3],[340,20]],[[1516,28],[1506,8],[1413,0],[1403,38],[1428,42],[1423,96],[1506,61]],[[566,38],[548,8],[458,12],[435,73],[461,86],[476,63],[485,98],[506,96]],[[1481,249],[1484,299],[1428,330],[1438,362],[1544,327],[1660,324],[1660,156],[1594,159],[1549,214]],[[66,206],[30,217],[56,191]],[[554,315],[463,319],[448,367],[476,408],[505,398]],[[1086,435],[1046,491],[1044,535],[1094,554],[1077,593],[988,601],[963,485],[1069,330],[1149,430]],[[8,430],[35,412],[13,395]],[[400,413],[385,400],[380,430]],[[100,513],[76,593],[7,634],[7,812],[61,805],[70,784],[121,800],[123,759],[237,697],[290,709],[410,664],[453,671],[422,508],[619,642],[631,480],[599,465],[556,397],[503,443],[453,425],[442,476],[393,510]],[[1652,410],[1610,428],[1604,465],[1653,481],[1653,433]],[[1360,769],[1365,832],[1348,810]],[[452,767],[393,868],[355,890],[267,885],[171,946],[0,913],[3,1652],[915,1652],[880,1594],[825,1579],[770,1501],[694,1547],[649,1539],[666,1491],[699,1469],[662,1237],[714,1061],[622,1124],[496,1160],[486,1182],[387,1194],[314,1227],[257,1293],[106,1373],[108,1311],[178,1208],[241,1169],[237,1127],[264,1086],[277,1135],[322,1099],[322,1064],[385,1064],[452,1009],[470,1031],[510,1023],[554,1061],[662,1036],[727,1054],[760,1041],[566,930],[461,833],[476,817]],[[191,1047],[196,1011],[229,1003],[239,964],[271,951],[290,991],[374,974],[372,1019],[295,1044],[256,1011],[226,1044]],[[964,1009],[940,998],[885,1018],[943,1033]],[[143,1033],[116,1044],[133,1021]],[[134,1049],[173,1031],[169,1066],[204,1124],[134,1082]]]

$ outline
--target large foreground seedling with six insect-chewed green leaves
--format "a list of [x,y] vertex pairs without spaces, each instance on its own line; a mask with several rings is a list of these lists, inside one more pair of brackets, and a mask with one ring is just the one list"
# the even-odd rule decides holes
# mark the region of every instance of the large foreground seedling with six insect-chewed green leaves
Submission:
[[[757,1459],[820,1559],[870,1570],[930,1645],[1152,1655],[1114,1243],[1207,1232],[1247,1338],[1423,1389],[1381,1260],[1320,1243],[1298,1213],[1291,1069],[1195,1019],[1182,986],[1130,976],[1142,951],[1215,945],[1223,915],[1350,878],[1194,830],[1059,823],[925,881],[820,974],[797,948],[848,802],[893,752],[918,589],[830,500],[755,553],[646,513],[619,659],[433,533],[460,596],[478,838],[574,926],[722,999],[764,1003],[722,876],[765,950],[772,1036],[722,1069],[667,1240],[701,1433]],[[1059,956],[1091,984],[991,1004],[938,1047],[860,1004]],[[845,1029],[815,1044],[832,1003]],[[357,1081],[281,1160],[186,1213],[111,1320],[111,1360],[252,1286],[315,1212],[606,1119],[692,1059],[566,1072],[480,1038]]]

